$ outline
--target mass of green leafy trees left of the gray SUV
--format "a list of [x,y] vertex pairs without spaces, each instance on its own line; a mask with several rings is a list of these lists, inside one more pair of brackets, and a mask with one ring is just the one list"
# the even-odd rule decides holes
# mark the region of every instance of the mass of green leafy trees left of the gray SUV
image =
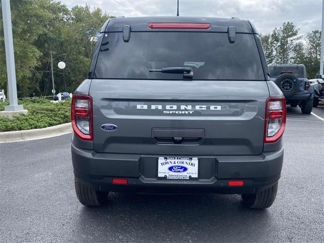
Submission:
[[[52,0],[11,1],[11,12],[18,97],[52,95],[50,51],[55,52],[56,93],[73,92],[87,76],[98,33],[112,16],[89,5],[68,9]],[[57,67],[59,61],[65,69]],[[0,87],[7,88],[1,11]]]

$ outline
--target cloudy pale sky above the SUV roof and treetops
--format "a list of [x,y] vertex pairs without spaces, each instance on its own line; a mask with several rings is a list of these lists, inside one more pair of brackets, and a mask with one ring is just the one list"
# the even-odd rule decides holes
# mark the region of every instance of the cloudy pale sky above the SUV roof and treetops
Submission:
[[[99,7],[112,16],[175,16],[177,0],[62,0]],[[260,33],[270,33],[291,21],[305,35],[321,28],[321,0],[179,0],[180,16],[238,17],[251,20]]]

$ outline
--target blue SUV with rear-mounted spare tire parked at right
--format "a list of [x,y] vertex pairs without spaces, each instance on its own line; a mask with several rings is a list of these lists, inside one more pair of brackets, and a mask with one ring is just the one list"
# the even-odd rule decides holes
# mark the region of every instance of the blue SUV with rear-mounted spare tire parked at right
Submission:
[[313,109],[314,88],[306,77],[304,65],[269,65],[270,80],[284,93],[291,107],[301,108],[303,114]]

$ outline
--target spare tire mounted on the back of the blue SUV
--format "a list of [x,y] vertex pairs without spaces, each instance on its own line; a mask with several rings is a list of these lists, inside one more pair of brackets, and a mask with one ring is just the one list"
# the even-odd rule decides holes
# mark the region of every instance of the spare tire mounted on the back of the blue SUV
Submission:
[[286,98],[292,97],[299,91],[299,80],[292,73],[282,73],[275,79],[275,84]]

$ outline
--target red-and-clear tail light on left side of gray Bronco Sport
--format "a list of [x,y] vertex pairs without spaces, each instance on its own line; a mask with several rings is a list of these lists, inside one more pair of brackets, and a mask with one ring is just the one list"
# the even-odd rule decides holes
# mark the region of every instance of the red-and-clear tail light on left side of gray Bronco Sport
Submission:
[[74,133],[82,140],[93,140],[92,97],[73,95],[71,104],[71,123]]

